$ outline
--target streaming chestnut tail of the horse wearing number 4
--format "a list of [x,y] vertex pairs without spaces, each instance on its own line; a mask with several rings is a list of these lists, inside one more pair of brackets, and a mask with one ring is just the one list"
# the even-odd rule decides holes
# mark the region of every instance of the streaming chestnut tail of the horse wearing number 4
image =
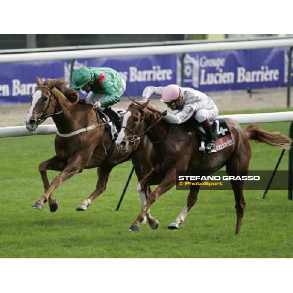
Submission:
[[265,143],[271,146],[280,146],[282,148],[290,149],[292,139],[286,135],[269,132],[265,129],[259,128],[252,124],[245,129],[246,137],[255,142]]

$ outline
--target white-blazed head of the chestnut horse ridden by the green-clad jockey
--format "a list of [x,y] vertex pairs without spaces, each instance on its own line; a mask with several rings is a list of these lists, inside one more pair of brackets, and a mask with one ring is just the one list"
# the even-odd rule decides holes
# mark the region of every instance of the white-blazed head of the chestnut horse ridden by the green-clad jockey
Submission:
[[[31,95],[31,106],[24,118],[28,131],[35,131],[48,117],[63,111],[66,103],[71,104],[70,99],[79,99],[74,89],[67,88],[67,82],[62,79],[46,79],[42,83],[37,77],[37,88]],[[63,101],[63,102],[61,102]]]

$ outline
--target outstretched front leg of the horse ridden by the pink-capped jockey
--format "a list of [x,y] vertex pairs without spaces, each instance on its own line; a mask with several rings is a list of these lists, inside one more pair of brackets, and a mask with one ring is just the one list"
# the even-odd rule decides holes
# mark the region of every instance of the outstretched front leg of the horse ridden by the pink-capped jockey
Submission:
[[[142,180],[144,182],[145,178]],[[167,172],[164,179],[161,181],[159,186],[149,194],[146,199],[146,205],[142,209],[141,213],[138,215],[136,221],[131,225],[129,231],[138,231],[140,227],[140,223],[144,220],[146,216],[146,212],[150,208],[150,206],[157,200],[159,196],[164,194],[167,190],[172,188],[176,184],[176,167],[172,167]]]

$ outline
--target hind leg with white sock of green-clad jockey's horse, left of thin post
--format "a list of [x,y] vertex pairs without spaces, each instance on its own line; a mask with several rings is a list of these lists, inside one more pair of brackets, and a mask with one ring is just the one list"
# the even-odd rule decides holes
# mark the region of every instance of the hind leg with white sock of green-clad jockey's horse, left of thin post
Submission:
[[76,210],[87,210],[91,203],[105,191],[110,172],[113,167],[100,167],[98,168],[98,182],[96,189],[88,196],[83,202],[81,202]]

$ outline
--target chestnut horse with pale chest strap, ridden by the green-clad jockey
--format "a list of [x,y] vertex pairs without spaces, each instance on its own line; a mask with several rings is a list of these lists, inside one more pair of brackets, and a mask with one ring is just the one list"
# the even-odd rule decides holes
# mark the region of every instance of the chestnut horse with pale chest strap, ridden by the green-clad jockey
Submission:
[[[42,84],[40,78],[37,78],[37,85],[25,118],[26,128],[35,131],[46,118],[52,117],[58,133],[55,138],[56,155],[39,165],[45,193],[33,208],[42,209],[48,201],[50,210],[56,211],[58,203],[52,196],[53,190],[85,168],[98,167],[99,178],[96,189],[76,210],[86,210],[105,190],[109,173],[116,165],[131,158],[138,180],[151,170],[150,162],[145,158],[149,157],[152,144],[146,136],[131,144],[127,152],[121,152],[116,148],[100,115],[96,114],[91,105],[79,99],[77,91],[67,88],[67,82],[63,79],[47,79]],[[61,171],[51,184],[48,182],[47,170]],[[146,199],[141,198],[141,201],[143,205]],[[146,217],[150,226],[156,229],[158,221],[149,212]]]

